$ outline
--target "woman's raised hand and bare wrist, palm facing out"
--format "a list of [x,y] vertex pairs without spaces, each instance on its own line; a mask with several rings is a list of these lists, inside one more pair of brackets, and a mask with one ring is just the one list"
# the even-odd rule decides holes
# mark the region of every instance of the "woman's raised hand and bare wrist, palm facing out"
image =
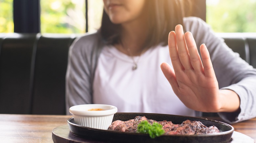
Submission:
[[227,94],[237,94],[219,90],[205,44],[200,46],[201,60],[191,32],[184,34],[182,26],[177,25],[175,32],[169,33],[168,45],[173,69],[167,63],[162,63],[161,69],[174,93],[188,108],[202,112],[233,112],[239,108],[237,101],[234,108],[226,104]]

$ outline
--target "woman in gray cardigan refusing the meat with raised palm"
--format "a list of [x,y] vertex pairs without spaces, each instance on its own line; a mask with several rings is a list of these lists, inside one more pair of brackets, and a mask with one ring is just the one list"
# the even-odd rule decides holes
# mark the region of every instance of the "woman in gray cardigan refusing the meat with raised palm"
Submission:
[[228,122],[256,116],[256,70],[201,19],[184,17],[181,0],[103,2],[101,28],[70,48],[67,113],[100,103],[118,112],[219,112]]

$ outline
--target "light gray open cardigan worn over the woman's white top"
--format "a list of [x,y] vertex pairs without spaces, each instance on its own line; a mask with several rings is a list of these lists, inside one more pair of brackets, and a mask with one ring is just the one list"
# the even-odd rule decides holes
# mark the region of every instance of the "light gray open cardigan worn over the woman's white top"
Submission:
[[[186,17],[183,27],[193,34],[198,49],[203,43],[207,46],[219,88],[231,89],[240,97],[240,112],[218,113],[220,117],[229,123],[256,117],[256,69],[215,36],[203,20]],[[105,44],[96,32],[77,38],[71,45],[66,73],[67,114],[73,105],[92,103],[94,72]]]

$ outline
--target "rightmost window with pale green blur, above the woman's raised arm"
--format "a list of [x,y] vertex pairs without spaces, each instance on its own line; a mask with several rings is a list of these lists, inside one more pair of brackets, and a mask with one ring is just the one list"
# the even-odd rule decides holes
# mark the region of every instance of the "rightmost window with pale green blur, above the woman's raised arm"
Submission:
[[206,0],[206,22],[215,32],[256,32],[256,0]]

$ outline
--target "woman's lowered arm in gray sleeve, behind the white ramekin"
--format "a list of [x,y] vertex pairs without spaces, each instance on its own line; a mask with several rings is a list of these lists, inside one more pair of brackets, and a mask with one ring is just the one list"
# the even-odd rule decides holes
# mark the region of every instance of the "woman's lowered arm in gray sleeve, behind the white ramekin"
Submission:
[[88,63],[83,56],[81,40],[74,41],[70,47],[66,73],[66,114],[70,114],[71,106],[92,103]]

